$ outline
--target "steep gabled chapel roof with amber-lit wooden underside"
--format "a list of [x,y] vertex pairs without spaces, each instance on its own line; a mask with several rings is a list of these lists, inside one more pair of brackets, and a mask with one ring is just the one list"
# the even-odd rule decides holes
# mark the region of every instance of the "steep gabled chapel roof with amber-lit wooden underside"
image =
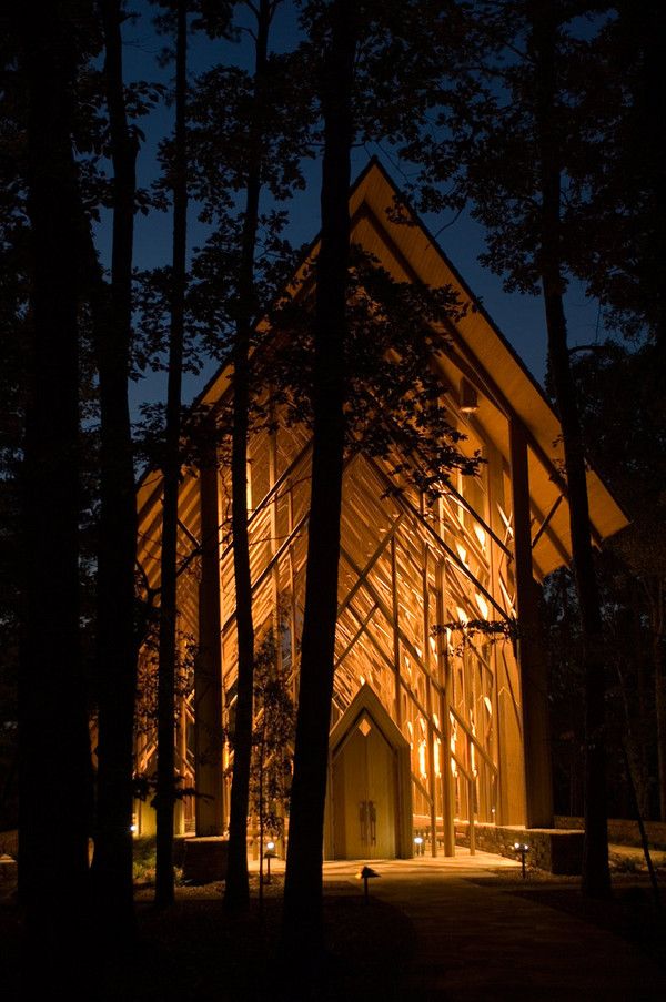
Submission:
[[[508,422],[515,418],[525,428],[535,573],[544,576],[571,560],[559,422],[541,386],[418,216],[405,208],[403,215],[407,222],[398,222],[395,213],[389,212],[396,196],[400,193],[392,180],[373,160],[350,195],[352,240],[374,254],[396,281],[418,280],[434,287],[450,285],[461,302],[470,304],[465,316],[447,327],[451,346],[438,363],[443,383],[455,402],[463,377],[475,387],[478,408],[465,417],[467,431],[472,437],[490,443],[504,457],[507,468]],[[317,249],[315,240],[307,260]],[[299,279],[305,266],[294,276],[291,285],[294,294],[299,294]],[[220,399],[230,386],[230,367],[223,366],[203,389],[199,402],[214,404]],[[147,474],[140,487],[139,516],[143,525],[155,517],[160,479],[159,474]],[[598,543],[624,528],[627,519],[594,470],[588,470],[587,486],[592,534]]]

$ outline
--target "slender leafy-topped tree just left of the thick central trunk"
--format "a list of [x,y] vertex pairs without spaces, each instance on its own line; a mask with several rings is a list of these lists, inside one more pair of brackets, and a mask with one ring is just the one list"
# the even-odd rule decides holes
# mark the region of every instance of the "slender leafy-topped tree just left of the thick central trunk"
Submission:
[[[289,245],[280,239],[285,213],[262,213],[261,198],[268,189],[278,202],[284,202],[302,185],[299,162],[307,155],[310,122],[307,91],[296,77],[297,55],[269,51],[270,27],[278,7],[275,0],[261,0],[253,9],[253,75],[233,67],[213,69],[200,79],[192,108],[194,190],[203,203],[202,219],[214,221],[220,227],[194,263],[199,285],[193,300],[202,307],[198,322],[202,327],[209,326],[209,344],[218,355],[229,351],[233,364],[231,414],[221,421],[225,425],[222,435],[230,433],[231,438],[239,638],[224,890],[230,910],[243,909],[249,902],[246,841],[255,644],[248,545],[248,435],[253,421],[266,419],[259,402],[263,387],[252,378],[255,374],[251,372],[250,358],[259,340],[255,325],[287,266],[284,257],[291,261]],[[210,30],[218,33],[219,23],[210,26]],[[219,130],[211,130],[211,120],[219,123]],[[243,199],[240,213],[235,210],[235,193]],[[273,256],[280,259],[278,269],[271,262]]]

